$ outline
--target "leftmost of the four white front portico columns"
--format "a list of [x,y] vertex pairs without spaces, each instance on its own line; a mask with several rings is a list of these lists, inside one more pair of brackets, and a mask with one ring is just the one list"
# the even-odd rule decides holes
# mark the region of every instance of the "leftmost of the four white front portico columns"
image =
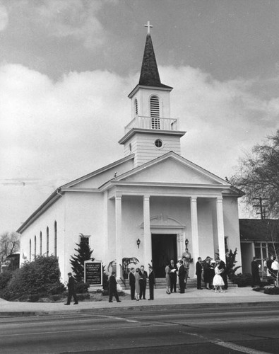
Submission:
[[121,196],[115,197],[115,246],[117,256],[117,279],[121,278],[120,264],[122,265],[122,205]]

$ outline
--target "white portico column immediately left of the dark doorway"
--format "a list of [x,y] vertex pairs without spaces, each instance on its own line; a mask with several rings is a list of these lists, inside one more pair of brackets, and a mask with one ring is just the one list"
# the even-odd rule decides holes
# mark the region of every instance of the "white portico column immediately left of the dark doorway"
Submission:
[[150,197],[143,196],[143,224],[144,224],[144,263],[148,269],[148,263],[152,265],[152,242],[150,232]]

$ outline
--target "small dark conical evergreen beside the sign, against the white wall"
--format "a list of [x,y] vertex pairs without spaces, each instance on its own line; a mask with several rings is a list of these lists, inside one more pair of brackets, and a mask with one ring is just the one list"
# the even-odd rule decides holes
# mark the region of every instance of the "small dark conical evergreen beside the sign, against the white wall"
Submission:
[[81,241],[79,244],[76,244],[76,246],[78,246],[78,249],[75,249],[77,254],[71,256],[70,259],[71,268],[74,273],[74,278],[76,279],[77,282],[84,281],[84,266],[83,266],[84,262],[89,260],[94,261],[95,259],[91,257],[93,251],[90,250],[88,239],[84,237],[83,234],[80,235],[81,235]]

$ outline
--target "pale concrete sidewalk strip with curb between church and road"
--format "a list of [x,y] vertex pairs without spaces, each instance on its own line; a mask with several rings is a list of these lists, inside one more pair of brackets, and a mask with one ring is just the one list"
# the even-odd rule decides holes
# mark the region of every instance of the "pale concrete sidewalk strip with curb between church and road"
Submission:
[[[148,299],[147,291],[147,299]],[[0,317],[5,316],[33,316],[44,314],[69,314],[69,313],[112,313],[121,311],[143,311],[150,307],[153,309],[179,309],[203,308],[203,307],[242,307],[249,304],[259,306],[279,305],[278,295],[266,295],[261,292],[251,290],[251,287],[230,287],[225,293],[215,293],[213,290],[187,289],[185,294],[179,292],[167,295],[164,289],[155,289],[155,299],[153,301],[140,300],[132,301],[129,291],[125,297],[120,297],[121,302],[109,303],[99,302],[79,302],[77,305],[65,306],[64,302],[44,303],[44,302],[8,302],[0,299]],[[191,306],[189,306],[191,304]]]

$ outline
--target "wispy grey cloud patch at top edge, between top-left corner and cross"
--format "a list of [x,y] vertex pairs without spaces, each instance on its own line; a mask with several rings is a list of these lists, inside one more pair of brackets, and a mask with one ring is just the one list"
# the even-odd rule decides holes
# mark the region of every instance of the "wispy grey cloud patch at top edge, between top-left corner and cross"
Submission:
[[108,2],[114,4],[109,0],[45,0],[36,7],[37,21],[47,28],[49,35],[73,38],[93,49],[106,39],[97,13]]

